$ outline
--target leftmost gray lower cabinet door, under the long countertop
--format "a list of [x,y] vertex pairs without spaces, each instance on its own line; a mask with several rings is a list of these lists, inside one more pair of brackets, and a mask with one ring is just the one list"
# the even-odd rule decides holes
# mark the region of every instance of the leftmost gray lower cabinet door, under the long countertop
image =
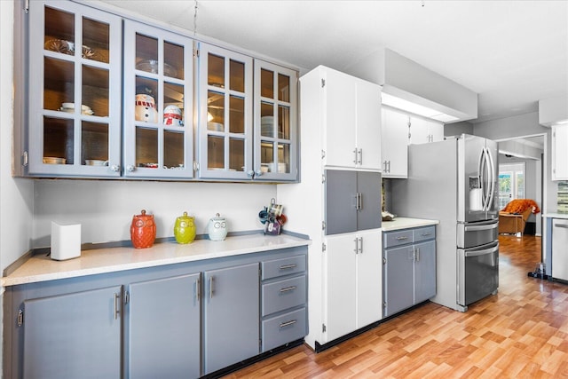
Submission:
[[24,301],[22,376],[120,378],[121,292],[116,286]]

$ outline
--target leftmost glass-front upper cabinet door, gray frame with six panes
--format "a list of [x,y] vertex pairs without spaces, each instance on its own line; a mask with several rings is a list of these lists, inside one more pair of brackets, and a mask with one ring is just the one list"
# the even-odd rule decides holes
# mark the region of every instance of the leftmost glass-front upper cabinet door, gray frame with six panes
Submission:
[[30,2],[27,173],[118,177],[122,21],[72,2]]

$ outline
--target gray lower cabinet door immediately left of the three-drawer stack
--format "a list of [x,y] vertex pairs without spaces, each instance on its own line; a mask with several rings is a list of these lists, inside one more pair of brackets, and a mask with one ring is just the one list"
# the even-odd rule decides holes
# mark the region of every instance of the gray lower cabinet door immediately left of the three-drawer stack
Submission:
[[258,264],[207,271],[203,275],[204,374],[259,352]]

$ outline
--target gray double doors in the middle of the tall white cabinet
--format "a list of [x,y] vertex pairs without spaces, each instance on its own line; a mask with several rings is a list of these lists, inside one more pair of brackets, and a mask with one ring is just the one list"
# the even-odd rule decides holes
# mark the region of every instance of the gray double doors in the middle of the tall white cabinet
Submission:
[[381,227],[381,173],[325,171],[326,234]]

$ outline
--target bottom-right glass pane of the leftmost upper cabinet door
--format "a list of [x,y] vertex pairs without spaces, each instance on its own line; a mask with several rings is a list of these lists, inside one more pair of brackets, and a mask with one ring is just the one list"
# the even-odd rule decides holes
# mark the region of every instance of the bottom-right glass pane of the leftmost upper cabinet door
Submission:
[[82,122],[81,163],[92,166],[108,164],[108,124]]

